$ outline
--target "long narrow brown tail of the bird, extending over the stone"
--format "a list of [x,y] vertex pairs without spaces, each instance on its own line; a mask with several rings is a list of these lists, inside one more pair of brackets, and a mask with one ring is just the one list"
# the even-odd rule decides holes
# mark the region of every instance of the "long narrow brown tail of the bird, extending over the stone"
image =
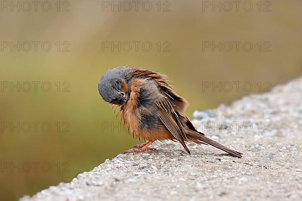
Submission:
[[211,140],[211,139],[205,137],[204,135],[200,135],[199,133],[197,133],[195,131],[189,130],[186,134],[187,134],[188,141],[195,142],[197,144],[206,143],[208,145],[212,145],[213,147],[216,147],[216,148],[218,148],[222,151],[225,151],[226,153],[229,153],[238,158],[242,157],[242,153],[229,149],[228,147],[225,147],[222,144],[219,144],[218,142],[215,142],[214,140]]

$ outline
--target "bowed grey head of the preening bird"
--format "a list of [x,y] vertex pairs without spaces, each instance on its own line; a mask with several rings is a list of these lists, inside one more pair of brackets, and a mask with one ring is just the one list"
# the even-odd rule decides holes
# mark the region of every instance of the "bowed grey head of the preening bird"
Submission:
[[127,66],[116,67],[105,72],[99,81],[99,92],[102,98],[115,105],[122,105],[127,102],[130,79],[130,68]]

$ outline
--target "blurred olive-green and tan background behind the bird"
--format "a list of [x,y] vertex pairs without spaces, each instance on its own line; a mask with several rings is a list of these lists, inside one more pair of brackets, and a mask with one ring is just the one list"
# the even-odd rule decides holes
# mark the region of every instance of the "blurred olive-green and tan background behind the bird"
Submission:
[[[1,41],[15,44],[49,41],[52,45],[48,52],[41,49],[41,43],[37,51],[32,47],[28,52],[18,52],[17,48],[13,51],[5,48],[0,52],[2,83],[48,81],[52,87],[49,92],[41,90],[41,84],[37,91],[18,92],[9,87],[0,92],[1,122],[49,122],[52,126],[50,132],[43,132],[41,124],[38,132],[34,129],[11,132],[10,128],[0,132],[0,197],[3,200],[16,200],[61,181],[68,182],[139,143],[123,130],[104,128],[106,122],[114,125],[119,122],[97,89],[102,74],[110,68],[131,65],[167,74],[176,92],[190,102],[187,109],[190,118],[194,110],[216,108],[219,104],[230,104],[244,95],[260,92],[259,81],[263,87],[267,86],[263,84],[266,81],[274,86],[302,73],[302,1],[271,1],[270,12],[263,12],[268,6],[265,1],[261,2],[262,11],[259,12],[258,0],[250,1],[254,6],[250,12],[244,11],[242,4],[238,12],[235,8],[225,12],[223,7],[221,12],[217,8],[214,12],[211,8],[203,11],[202,1],[180,0],[161,1],[161,11],[158,11],[158,1],[150,1],[153,8],[149,12],[144,11],[141,4],[137,12],[134,7],[129,12],[123,8],[120,12],[118,9],[112,12],[111,8],[102,11],[102,1],[68,1],[70,5],[61,1],[58,12],[57,1],[50,2],[49,12],[42,11],[39,5],[36,12],[34,8],[29,12],[16,9],[11,12],[10,8],[4,8],[0,12]],[[107,3],[112,4],[111,1]],[[62,12],[66,6],[69,12]],[[128,9],[124,6],[124,10]],[[165,8],[170,12],[163,12]],[[58,41],[60,51],[55,45]],[[64,41],[70,44],[66,49],[69,52],[62,51],[66,47]],[[128,46],[112,51],[111,47],[102,46],[104,41],[141,43],[138,51],[133,43],[130,51],[125,51]],[[141,44],[146,41],[153,45],[152,50],[142,49]],[[168,52],[164,51],[165,41],[170,44]],[[253,50],[244,51],[240,45],[238,52],[235,47],[230,52],[223,49],[220,52],[217,48],[203,51],[203,41],[216,44],[250,41]],[[269,41],[271,51],[264,52],[266,45],[263,45],[259,52],[256,45],[259,41],[262,45]],[[215,84],[250,81],[253,89],[250,92],[242,87],[230,92],[219,92],[217,88],[202,90],[203,81]],[[60,82],[59,92],[57,82]],[[69,92],[62,91],[66,82],[70,84]],[[61,124],[59,131],[56,122]],[[70,132],[62,132],[66,126],[63,122],[69,123]],[[18,166],[18,162],[20,172],[16,167],[13,171],[11,167],[4,168],[5,164]],[[37,163],[37,171],[33,162]],[[45,162],[51,164],[49,172],[41,168]],[[28,169],[27,163],[31,164],[29,172],[24,171]]]

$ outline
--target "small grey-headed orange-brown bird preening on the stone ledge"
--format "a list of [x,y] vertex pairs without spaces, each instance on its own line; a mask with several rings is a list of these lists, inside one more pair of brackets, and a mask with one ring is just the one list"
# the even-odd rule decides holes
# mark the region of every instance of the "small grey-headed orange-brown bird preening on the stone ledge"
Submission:
[[133,152],[153,149],[149,145],[157,140],[172,140],[179,142],[188,154],[191,152],[185,142],[211,145],[238,158],[243,155],[197,131],[185,115],[187,100],[176,94],[164,74],[119,66],[103,74],[98,89],[105,102],[121,114],[121,120],[133,137],[145,140],[134,146],[136,151]]

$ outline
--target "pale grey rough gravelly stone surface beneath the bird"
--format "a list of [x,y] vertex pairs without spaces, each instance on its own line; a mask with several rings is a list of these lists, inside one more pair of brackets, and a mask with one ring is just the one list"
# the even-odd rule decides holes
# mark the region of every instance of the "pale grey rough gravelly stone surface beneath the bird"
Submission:
[[231,106],[195,111],[207,136],[244,153],[158,142],[158,152],[119,154],[70,183],[25,200],[302,200],[302,78]]

